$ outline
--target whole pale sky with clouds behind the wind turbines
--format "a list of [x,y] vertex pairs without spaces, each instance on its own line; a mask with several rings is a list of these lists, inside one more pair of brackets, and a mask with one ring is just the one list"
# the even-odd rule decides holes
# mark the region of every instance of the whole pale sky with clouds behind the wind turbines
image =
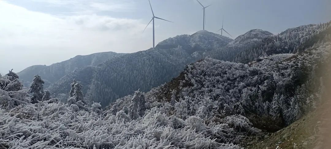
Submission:
[[[208,31],[235,38],[251,29],[274,34],[331,20],[330,0],[200,0]],[[196,0],[151,0],[156,44],[202,30]],[[133,53],[153,46],[148,0],[0,0],[0,73],[51,65],[76,55]],[[224,34],[223,34],[224,35]]]

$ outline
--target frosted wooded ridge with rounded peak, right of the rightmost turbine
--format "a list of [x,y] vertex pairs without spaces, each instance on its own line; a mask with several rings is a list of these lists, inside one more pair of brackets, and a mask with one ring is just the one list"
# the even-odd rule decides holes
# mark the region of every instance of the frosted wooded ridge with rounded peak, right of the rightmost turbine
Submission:
[[238,36],[227,46],[211,50],[206,55],[217,60],[249,63],[261,55],[302,52],[307,40],[326,27],[327,24],[302,25],[289,28],[277,35],[253,29]]

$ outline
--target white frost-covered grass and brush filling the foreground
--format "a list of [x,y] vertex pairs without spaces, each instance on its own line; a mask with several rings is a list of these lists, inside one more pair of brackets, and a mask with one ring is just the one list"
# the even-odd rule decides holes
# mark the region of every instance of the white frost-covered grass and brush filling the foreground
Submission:
[[48,102],[2,106],[0,148],[239,148],[229,139],[236,139],[229,125],[208,125],[196,116],[184,121],[152,108],[130,120],[123,111],[98,115]]

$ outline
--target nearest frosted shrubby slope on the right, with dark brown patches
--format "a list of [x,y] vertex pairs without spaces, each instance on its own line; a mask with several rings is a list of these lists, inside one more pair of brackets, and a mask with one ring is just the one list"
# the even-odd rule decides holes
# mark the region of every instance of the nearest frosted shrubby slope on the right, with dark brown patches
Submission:
[[[256,128],[276,132],[314,110],[325,92],[331,22],[321,26],[325,29],[316,28],[295,54],[263,55],[248,64],[212,58],[191,63],[170,82],[143,94],[147,109],[157,107],[183,120],[200,117],[206,124],[240,115]],[[132,98],[119,98],[106,109],[121,111]]]

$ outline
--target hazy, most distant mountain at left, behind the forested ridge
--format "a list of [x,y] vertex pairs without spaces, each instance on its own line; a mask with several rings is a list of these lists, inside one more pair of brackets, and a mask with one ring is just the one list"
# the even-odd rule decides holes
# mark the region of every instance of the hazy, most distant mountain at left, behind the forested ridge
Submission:
[[44,80],[47,80],[49,84],[52,84],[59,80],[61,77],[70,74],[71,72],[78,70],[85,66],[97,66],[105,60],[112,59],[117,56],[124,55],[123,53],[115,52],[101,52],[90,55],[77,55],[69,60],[55,63],[50,66],[46,65],[34,65],[30,66],[23,71],[17,73],[20,79],[24,80],[24,85],[29,86],[33,76],[41,75]]

